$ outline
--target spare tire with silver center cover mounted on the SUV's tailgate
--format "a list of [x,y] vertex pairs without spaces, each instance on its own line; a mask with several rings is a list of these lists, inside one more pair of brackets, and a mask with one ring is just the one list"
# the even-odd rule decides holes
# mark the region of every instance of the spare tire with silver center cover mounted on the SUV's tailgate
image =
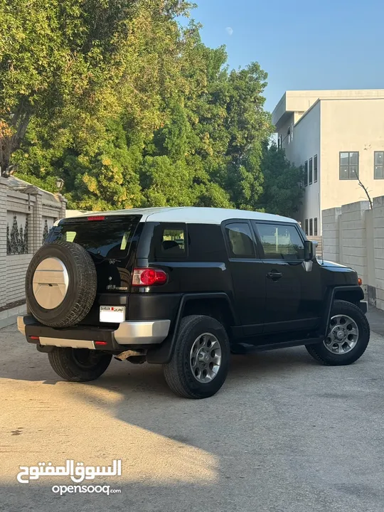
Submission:
[[26,302],[41,324],[78,324],[95,302],[97,274],[90,254],[74,242],[41,247],[26,273]]

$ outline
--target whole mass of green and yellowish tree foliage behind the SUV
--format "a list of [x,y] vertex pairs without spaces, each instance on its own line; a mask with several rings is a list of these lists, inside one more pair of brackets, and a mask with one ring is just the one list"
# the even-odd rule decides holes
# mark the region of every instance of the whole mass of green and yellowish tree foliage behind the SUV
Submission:
[[[60,176],[75,208],[294,212],[294,171],[265,145],[267,74],[257,63],[228,70],[225,48],[205,46],[193,21],[178,23],[190,9],[184,0],[0,0],[2,169],[50,191]],[[279,201],[276,165],[292,171]]]

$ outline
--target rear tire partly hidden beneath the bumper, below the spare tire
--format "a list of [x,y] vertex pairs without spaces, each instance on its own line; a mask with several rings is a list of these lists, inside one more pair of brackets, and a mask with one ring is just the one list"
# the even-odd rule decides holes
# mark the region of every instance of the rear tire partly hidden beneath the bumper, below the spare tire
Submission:
[[96,380],[110,366],[111,359],[111,354],[89,348],[55,347],[48,353],[55,373],[70,382]]

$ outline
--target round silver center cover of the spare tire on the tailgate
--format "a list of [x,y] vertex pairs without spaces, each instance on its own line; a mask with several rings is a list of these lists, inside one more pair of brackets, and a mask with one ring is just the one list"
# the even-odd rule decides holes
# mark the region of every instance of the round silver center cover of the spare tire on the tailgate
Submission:
[[48,257],[38,264],[33,274],[33,295],[39,306],[55,309],[68,292],[68,270],[56,257]]

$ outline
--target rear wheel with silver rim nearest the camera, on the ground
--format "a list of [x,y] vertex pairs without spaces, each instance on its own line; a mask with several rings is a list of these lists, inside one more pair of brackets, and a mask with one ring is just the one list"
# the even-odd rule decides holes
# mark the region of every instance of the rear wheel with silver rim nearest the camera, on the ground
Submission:
[[208,398],[225,382],[229,361],[230,343],[223,325],[210,316],[186,316],[171,361],[164,365],[164,377],[178,396]]

